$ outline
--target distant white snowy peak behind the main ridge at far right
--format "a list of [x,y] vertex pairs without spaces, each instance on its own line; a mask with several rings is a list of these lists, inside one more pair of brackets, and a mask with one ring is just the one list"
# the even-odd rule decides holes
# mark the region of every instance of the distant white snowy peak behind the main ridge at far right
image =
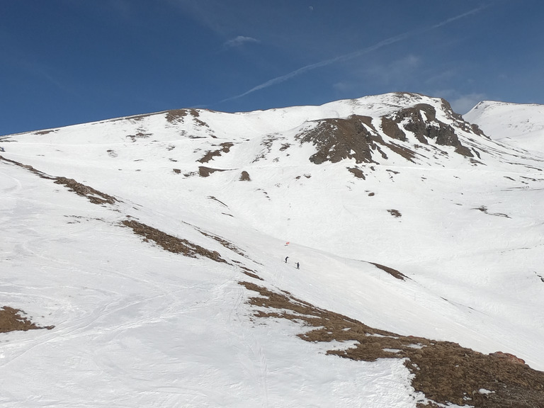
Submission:
[[544,153],[544,105],[483,101],[463,117],[494,140]]

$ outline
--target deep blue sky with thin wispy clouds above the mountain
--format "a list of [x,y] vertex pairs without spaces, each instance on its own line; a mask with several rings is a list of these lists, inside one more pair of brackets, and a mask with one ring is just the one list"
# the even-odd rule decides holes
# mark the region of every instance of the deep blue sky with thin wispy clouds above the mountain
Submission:
[[541,0],[0,0],[0,135],[411,91],[544,104]]

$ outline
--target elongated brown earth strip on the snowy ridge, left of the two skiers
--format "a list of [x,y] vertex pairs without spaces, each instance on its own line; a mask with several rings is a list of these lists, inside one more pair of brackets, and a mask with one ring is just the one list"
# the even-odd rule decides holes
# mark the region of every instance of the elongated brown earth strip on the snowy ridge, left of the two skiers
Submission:
[[198,255],[211,259],[212,261],[227,263],[225,259],[222,259],[219,252],[210,251],[203,246],[193,244],[193,242],[187,239],[181,239],[174,237],[174,235],[166,234],[160,229],[149,227],[149,225],[142,224],[135,220],[123,220],[121,222],[125,227],[132,228],[135,234],[144,237],[145,242],[152,241],[159,245],[165,251],[172,252],[174,254],[182,254],[190,258],[197,258]]

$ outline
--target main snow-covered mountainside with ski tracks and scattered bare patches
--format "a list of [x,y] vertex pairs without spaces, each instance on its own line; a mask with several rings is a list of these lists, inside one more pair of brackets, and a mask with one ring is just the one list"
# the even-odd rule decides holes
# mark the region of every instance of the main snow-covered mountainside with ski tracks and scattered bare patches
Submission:
[[386,94],[4,137],[0,293],[55,329],[0,335],[0,404],[424,401],[399,358],[327,356],[359,341],[254,317],[272,306],[249,283],[544,370],[544,159],[487,136]]

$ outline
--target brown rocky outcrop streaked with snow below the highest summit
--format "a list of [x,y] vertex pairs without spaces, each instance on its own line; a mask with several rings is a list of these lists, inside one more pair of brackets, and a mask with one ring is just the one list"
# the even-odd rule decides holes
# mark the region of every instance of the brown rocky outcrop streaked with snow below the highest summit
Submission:
[[357,164],[378,164],[379,160],[389,159],[388,152],[416,162],[417,157],[421,157],[418,149],[448,154],[441,149],[446,146],[472,159],[478,153],[463,145],[459,133],[467,132],[472,137],[486,136],[477,125],[467,123],[454,113],[446,101],[442,107],[449,123],[438,120],[436,108],[419,103],[380,116],[378,126],[375,118],[365,115],[317,120],[317,125],[298,134],[297,139],[317,147],[317,152],[310,157],[315,164],[336,163],[344,159],[355,159]]

